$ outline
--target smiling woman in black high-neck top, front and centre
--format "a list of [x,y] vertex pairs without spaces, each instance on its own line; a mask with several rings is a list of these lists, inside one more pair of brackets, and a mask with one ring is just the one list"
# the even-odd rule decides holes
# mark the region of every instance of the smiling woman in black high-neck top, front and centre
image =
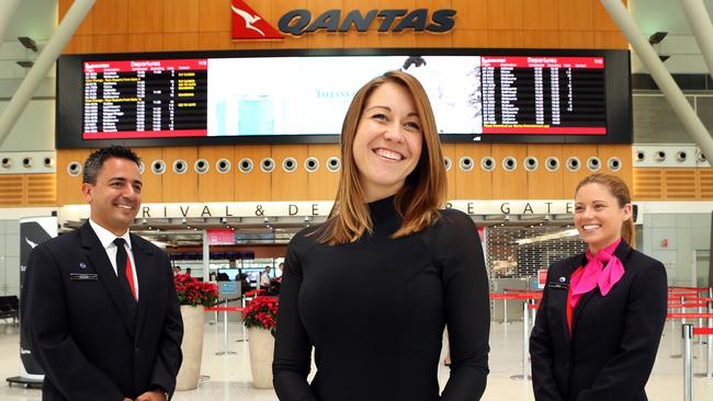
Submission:
[[[321,226],[290,243],[273,363],[282,401],[474,401],[488,374],[489,302],[475,225],[440,210],[445,169],[428,98],[391,71],[354,96]],[[439,394],[448,324],[451,377]],[[317,373],[307,382],[312,350]]]

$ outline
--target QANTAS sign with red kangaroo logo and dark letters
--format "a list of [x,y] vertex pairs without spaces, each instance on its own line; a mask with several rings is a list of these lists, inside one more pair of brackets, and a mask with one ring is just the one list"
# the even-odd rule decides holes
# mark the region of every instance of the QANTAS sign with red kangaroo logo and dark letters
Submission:
[[366,32],[370,26],[377,26],[378,32],[441,33],[451,31],[455,24],[455,10],[437,10],[429,14],[428,9],[417,10],[370,10],[362,14],[359,10],[342,12],[327,10],[313,18],[308,10],[287,11],[280,18],[278,28],[265,21],[244,0],[233,0],[233,38],[234,39],[280,39],[283,34],[301,36],[317,31],[348,32],[352,28]]

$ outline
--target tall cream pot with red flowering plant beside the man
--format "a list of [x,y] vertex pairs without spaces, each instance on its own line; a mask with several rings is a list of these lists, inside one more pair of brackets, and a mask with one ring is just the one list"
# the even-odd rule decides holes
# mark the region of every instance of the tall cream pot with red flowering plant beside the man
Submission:
[[176,378],[176,390],[193,390],[199,386],[203,357],[203,308],[218,299],[218,286],[188,274],[177,274],[173,280],[183,318],[183,363]]

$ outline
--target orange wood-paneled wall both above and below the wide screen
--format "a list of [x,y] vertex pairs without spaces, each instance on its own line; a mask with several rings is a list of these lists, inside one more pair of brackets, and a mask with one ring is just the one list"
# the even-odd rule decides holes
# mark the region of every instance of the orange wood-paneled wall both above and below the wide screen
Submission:
[[[59,0],[61,19],[71,0]],[[516,48],[626,48],[626,39],[601,7],[599,0],[249,0],[248,3],[273,26],[288,10],[308,9],[313,18],[329,9],[344,11],[372,9],[428,8],[454,9],[455,27],[444,34],[380,33],[375,22],[369,32],[333,34],[318,32],[301,37],[286,35],[281,41],[231,41],[230,0],[99,0],[65,48],[67,54],[220,50],[254,48],[354,48],[354,47],[516,47]],[[327,160],[339,156],[336,145],[306,146],[219,146],[136,149],[144,159],[144,202],[247,202],[332,199],[339,172],[327,170]],[[448,172],[451,199],[535,199],[569,198],[574,185],[587,173],[590,157],[604,154],[622,158],[618,172],[632,183],[631,147],[574,145],[488,145],[446,144],[444,156],[452,165]],[[72,160],[83,162],[86,150],[57,152],[57,204],[83,203],[79,193],[81,177],[71,177],[66,167]],[[502,159],[514,157],[514,171],[502,168]],[[539,161],[535,171],[523,168],[525,157]],[[285,158],[295,158],[297,169],[282,169]],[[319,169],[307,172],[305,159],[315,157]],[[495,169],[484,171],[485,157],[495,159]],[[559,160],[555,171],[545,170],[550,157]],[[577,157],[579,171],[565,167]],[[609,156],[611,157],[611,156]],[[227,173],[216,170],[218,159],[228,159]],[[271,158],[275,168],[265,173],[260,162]],[[459,167],[463,158],[473,161],[471,170]],[[173,161],[183,159],[189,171],[176,174]],[[208,172],[194,170],[197,159],[206,159]],[[252,161],[250,172],[239,162]],[[163,174],[154,174],[151,163],[163,160]],[[712,190],[713,191],[713,190]]]

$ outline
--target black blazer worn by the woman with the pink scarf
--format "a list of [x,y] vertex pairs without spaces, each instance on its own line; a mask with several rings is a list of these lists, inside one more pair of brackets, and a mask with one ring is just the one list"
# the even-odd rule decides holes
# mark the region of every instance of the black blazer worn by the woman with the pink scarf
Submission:
[[666,321],[664,265],[622,241],[614,251],[624,275],[606,297],[585,294],[567,329],[569,276],[587,263],[554,263],[530,336],[535,400],[645,401],[644,386]]

